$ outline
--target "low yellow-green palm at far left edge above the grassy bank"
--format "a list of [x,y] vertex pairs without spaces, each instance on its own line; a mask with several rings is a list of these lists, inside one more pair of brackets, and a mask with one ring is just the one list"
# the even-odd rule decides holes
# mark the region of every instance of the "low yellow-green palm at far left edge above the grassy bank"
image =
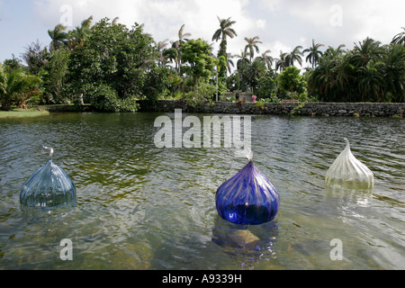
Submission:
[[41,82],[40,77],[27,75],[22,69],[9,73],[0,66],[0,102],[1,110],[8,111],[13,103],[23,104],[38,91],[37,85]]

